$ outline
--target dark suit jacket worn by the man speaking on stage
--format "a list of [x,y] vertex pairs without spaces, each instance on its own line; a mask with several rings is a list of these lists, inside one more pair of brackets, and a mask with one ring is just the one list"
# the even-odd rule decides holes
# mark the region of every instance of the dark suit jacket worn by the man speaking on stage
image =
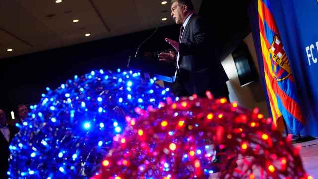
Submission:
[[[225,82],[228,79],[216,53],[213,29],[196,14],[193,14],[183,30],[179,43],[178,81],[192,95],[205,93],[228,94]],[[222,86],[222,88],[220,88]],[[225,88],[224,88],[225,87]]]

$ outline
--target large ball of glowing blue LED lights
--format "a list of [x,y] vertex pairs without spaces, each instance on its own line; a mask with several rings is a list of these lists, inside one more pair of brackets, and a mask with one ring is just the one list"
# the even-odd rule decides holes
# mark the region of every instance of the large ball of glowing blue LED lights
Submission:
[[173,99],[154,79],[120,69],[74,76],[46,90],[10,145],[11,179],[88,179],[124,130],[127,115]]

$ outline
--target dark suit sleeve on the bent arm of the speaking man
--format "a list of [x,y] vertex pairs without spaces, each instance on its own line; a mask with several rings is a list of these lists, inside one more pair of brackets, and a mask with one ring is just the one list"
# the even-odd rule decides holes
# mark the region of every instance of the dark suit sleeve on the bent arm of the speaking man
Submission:
[[208,25],[203,18],[193,19],[189,25],[193,29],[194,39],[186,43],[179,43],[179,53],[182,56],[200,52],[207,47],[208,43]]

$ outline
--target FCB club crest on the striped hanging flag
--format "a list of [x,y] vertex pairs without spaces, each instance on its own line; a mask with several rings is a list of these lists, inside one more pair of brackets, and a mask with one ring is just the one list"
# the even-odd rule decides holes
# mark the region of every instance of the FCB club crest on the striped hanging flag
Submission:
[[271,65],[273,77],[277,79],[277,81],[285,80],[290,76],[291,70],[285,49],[278,36],[274,36],[274,41],[268,51],[273,62]]

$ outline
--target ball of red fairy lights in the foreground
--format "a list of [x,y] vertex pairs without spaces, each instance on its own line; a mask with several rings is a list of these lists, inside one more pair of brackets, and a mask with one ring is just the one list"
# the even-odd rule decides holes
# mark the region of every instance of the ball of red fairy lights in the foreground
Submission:
[[[128,127],[116,135],[102,173],[92,179],[209,178],[217,168],[227,168],[218,178],[312,179],[299,148],[282,137],[270,118],[207,94],[209,99],[167,98],[160,109],[137,108],[139,118],[126,118]],[[214,164],[216,146],[219,155],[232,160]],[[239,156],[252,158],[235,168]]]

